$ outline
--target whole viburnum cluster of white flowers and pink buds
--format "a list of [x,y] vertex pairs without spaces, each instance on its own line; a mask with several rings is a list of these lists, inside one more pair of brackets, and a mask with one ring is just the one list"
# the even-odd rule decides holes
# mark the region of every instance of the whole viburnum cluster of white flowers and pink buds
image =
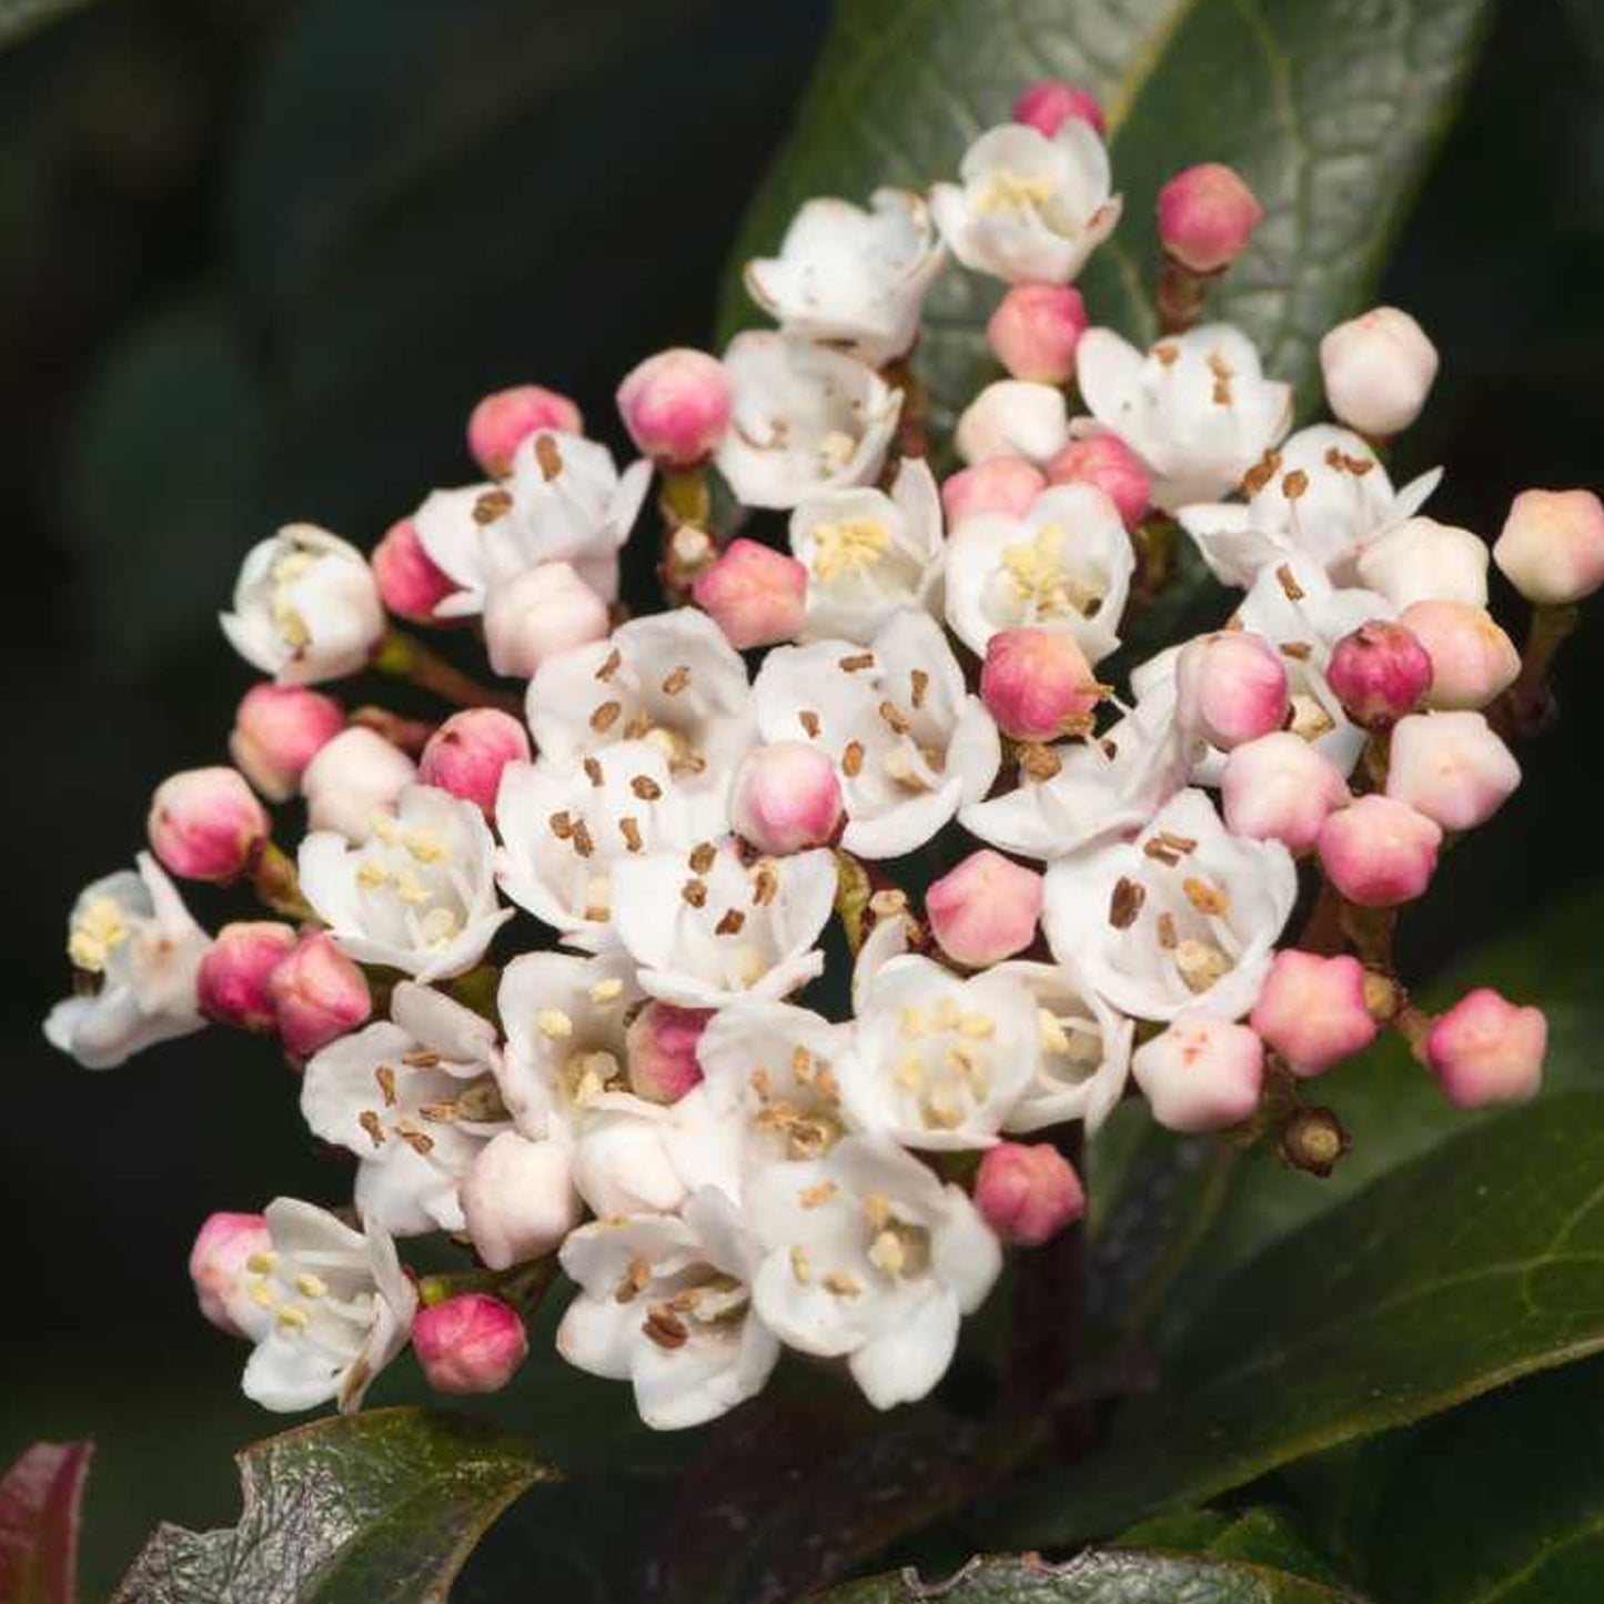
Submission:
[[[1059,83],[1015,111],[929,196],[804,205],[746,271],[776,327],[619,385],[638,460],[521,385],[468,422],[483,476],[371,555],[292,525],[245,557],[234,767],[156,789],[45,1030],[90,1068],[276,1035],[351,1155],[348,1206],[196,1241],[268,1408],[356,1407],[409,1341],[441,1391],[499,1387],[560,1278],[558,1352],[651,1426],[752,1397],[784,1347],[890,1407],[1007,1248],[1075,1224],[1079,1132],[1123,1097],[1323,1171],[1304,1084],[1384,1028],[1460,1107],[1537,1091],[1541,1014],[1429,1017],[1392,930],[1519,784],[1604,507],[1525,491],[1492,549],[1426,515],[1440,473],[1391,462],[1437,353],[1394,308],[1327,334],[1335,419],[1294,428],[1203,319],[1261,218],[1229,168],[1158,197],[1160,337],[1099,326],[1071,281],[1123,207],[1102,114]],[[908,363],[950,258],[1006,290],[938,480]],[[670,605],[630,618],[654,476]],[[1240,595],[1129,662],[1187,541]],[[1524,654],[1490,560],[1533,603]],[[330,693],[369,670],[457,711]],[[274,917],[209,935],[175,877]],[[414,1277],[396,1243],[435,1233],[472,1264]]]

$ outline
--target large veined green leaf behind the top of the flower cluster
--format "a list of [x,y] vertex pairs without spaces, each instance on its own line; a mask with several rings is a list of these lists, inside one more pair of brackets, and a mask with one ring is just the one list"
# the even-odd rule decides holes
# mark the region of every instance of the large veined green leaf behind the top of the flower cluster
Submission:
[[[808,196],[924,188],[1004,122],[1033,79],[1094,90],[1124,220],[1081,276],[1097,321],[1152,332],[1153,202],[1189,162],[1237,167],[1266,205],[1253,250],[1213,295],[1269,366],[1307,390],[1325,327],[1359,308],[1464,85],[1489,0],[842,0],[802,106],[741,233],[723,324],[749,318],[735,271],[772,250]],[[999,287],[951,269],[917,367],[938,423],[993,377],[983,322]]]

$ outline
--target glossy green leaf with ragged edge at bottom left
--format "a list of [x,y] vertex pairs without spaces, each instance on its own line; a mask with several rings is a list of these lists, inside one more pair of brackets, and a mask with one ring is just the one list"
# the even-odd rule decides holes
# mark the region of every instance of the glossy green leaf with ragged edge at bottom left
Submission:
[[282,1432],[239,1469],[239,1525],[160,1527],[114,1604],[435,1604],[496,1516],[557,1476],[499,1428],[411,1408]]

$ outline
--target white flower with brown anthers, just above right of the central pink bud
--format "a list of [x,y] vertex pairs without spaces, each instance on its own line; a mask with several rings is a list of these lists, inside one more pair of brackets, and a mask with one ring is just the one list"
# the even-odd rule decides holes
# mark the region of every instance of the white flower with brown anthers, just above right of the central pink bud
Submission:
[[849,640],[778,646],[759,670],[765,741],[818,743],[836,762],[842,847],[893,858],[978,802],[1001,762],[996,725],[967,695],[942,626],[905,610],[868,648]]

